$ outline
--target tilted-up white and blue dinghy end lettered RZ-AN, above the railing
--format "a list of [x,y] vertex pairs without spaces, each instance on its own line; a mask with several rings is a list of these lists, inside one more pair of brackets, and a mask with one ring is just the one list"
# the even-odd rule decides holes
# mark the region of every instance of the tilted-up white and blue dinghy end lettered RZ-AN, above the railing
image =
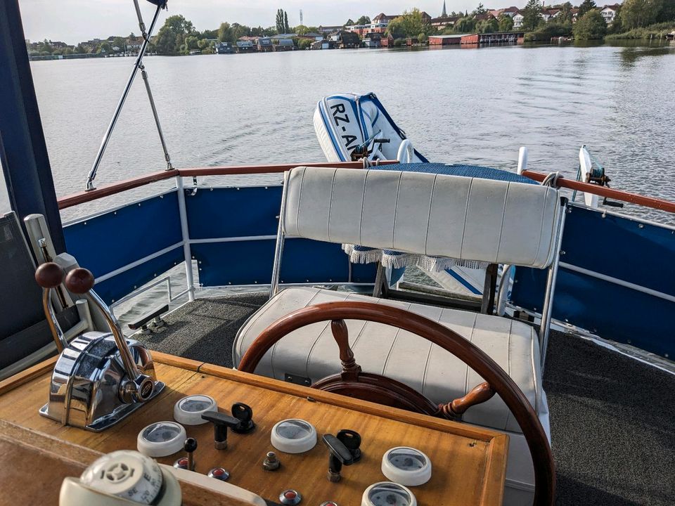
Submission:
[[328,162],[361,157],[401,163],[428,161],[413,148],[375,93],[339,93],[319,100],[314,131]]

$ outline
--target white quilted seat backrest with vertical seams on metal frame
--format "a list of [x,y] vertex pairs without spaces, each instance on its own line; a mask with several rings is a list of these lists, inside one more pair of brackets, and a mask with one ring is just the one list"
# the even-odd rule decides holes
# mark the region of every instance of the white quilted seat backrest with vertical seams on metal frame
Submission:
[[536,268],[562,212],[548,186],[377,169],[296,167],[284,193],[287,235]]

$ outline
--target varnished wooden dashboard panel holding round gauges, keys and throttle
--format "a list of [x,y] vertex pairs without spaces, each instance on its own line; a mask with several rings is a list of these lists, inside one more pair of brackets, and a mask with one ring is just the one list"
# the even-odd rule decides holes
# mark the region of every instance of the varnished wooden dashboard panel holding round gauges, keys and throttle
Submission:
[[[30,458],[26,460],[28,455],[41,455],[30,452],[41,447],[47,453],[39,458],[46,459],[45,462],[51,458],[65,459],[65,464],[59,467],[59,479],[41,488],[42,504],[56,505],[61,476],[72,475],[88,465],[98,452],[135,450],[139,431],[152,422],[172,420],[174,403],[189,394],[208,394],[226,412],[235,402],[253,408],[257,428],[251,434],[230,434],[227,450],[214,448],[211,424],[188,426],[186,430],[188,436],[198,440],[195,452],[198,472],[224,467],[231,473],[230,483],[265,499],[277,501],[281,491],[295,488],[302,494],[304,505],[318,506],[326,500],[341,506],[359,505],[367,486],[386,481],[380,471],[383,453],[394,446],[413,446],[426,453],[433,464],[432,479],[411,488],[420,506],[501,504],[508,446],[508,436],[504,434],[162,353],[155,352],[153,357],[158,378],[167,384],[165,391],[148,406],[100,433],[63,427],[38,414],[46,402],[53,361],[0,383],[0,448],[7,448],[8,441],[26,439],[24,450],[29,453],[17,460],[30,462]],[[269,441],[271,428],[290,417],[314,424],[319,440],[321,435],[335,434],[340,429],[356,430],[363,439],[363,458],[343,467],[342,481],[331,483],[326,477],[328,451],[319,441],[313,450],[301,455],[277,452],[281,468],[276,472],[264,471],[262,460],[267,451],[274,450]],[[158,460],[170,465],[179,455]],[[0,488],[7,490],[6,486],[11,486],[20,495],[12,498],[12,502],[34,504],[34,493],[18,486],[14,475],[4,465],[0,467]],[[201,502],[191,500],[190,493],[196,491],[184,488],[186,504]],[[231,501],[212,503],[236,506]]]

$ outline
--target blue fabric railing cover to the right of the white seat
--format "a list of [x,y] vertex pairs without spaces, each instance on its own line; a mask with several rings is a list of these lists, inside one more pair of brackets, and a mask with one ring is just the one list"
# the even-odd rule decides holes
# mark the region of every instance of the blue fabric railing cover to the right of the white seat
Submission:
[[[572,207],[560,260],[619,280],[675,294],[675,234],[668,228]],[[541,312],[547,271],[516,268],[511,300]],[[600,337],[664,355],[675,353],[675,303],[560,268],[553,318]]]

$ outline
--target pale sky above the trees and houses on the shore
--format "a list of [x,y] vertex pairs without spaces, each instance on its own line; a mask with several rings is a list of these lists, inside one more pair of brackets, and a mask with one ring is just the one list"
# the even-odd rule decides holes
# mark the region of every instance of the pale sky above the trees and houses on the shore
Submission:
[[[473,11],[479,1],[446,0],[446,8],[448,12]],[[143,18],[150,25],[155,6],[146,0],[139,2]],[[508,0],[494,5],[484,3],[491,8],[511,5]],[[19,6],[26,39],[31,41],[51,39],[77,44],[110,35],[139,34],[131,0],[19,0]],[[438,16],[443,0],[169,0],[168,6],[168,13],[160,15],[160,23],[167,15],[182,14],[197,30],[206,30],[217,28],[222,21],[268,27],[274,25],[277,8],[288,12],[291,26],[300,24],[300,9],[307,26],[342,25],[349,18],[356,20],[361,15],[373,18],[380,12],[398,14],[413,7]]]

